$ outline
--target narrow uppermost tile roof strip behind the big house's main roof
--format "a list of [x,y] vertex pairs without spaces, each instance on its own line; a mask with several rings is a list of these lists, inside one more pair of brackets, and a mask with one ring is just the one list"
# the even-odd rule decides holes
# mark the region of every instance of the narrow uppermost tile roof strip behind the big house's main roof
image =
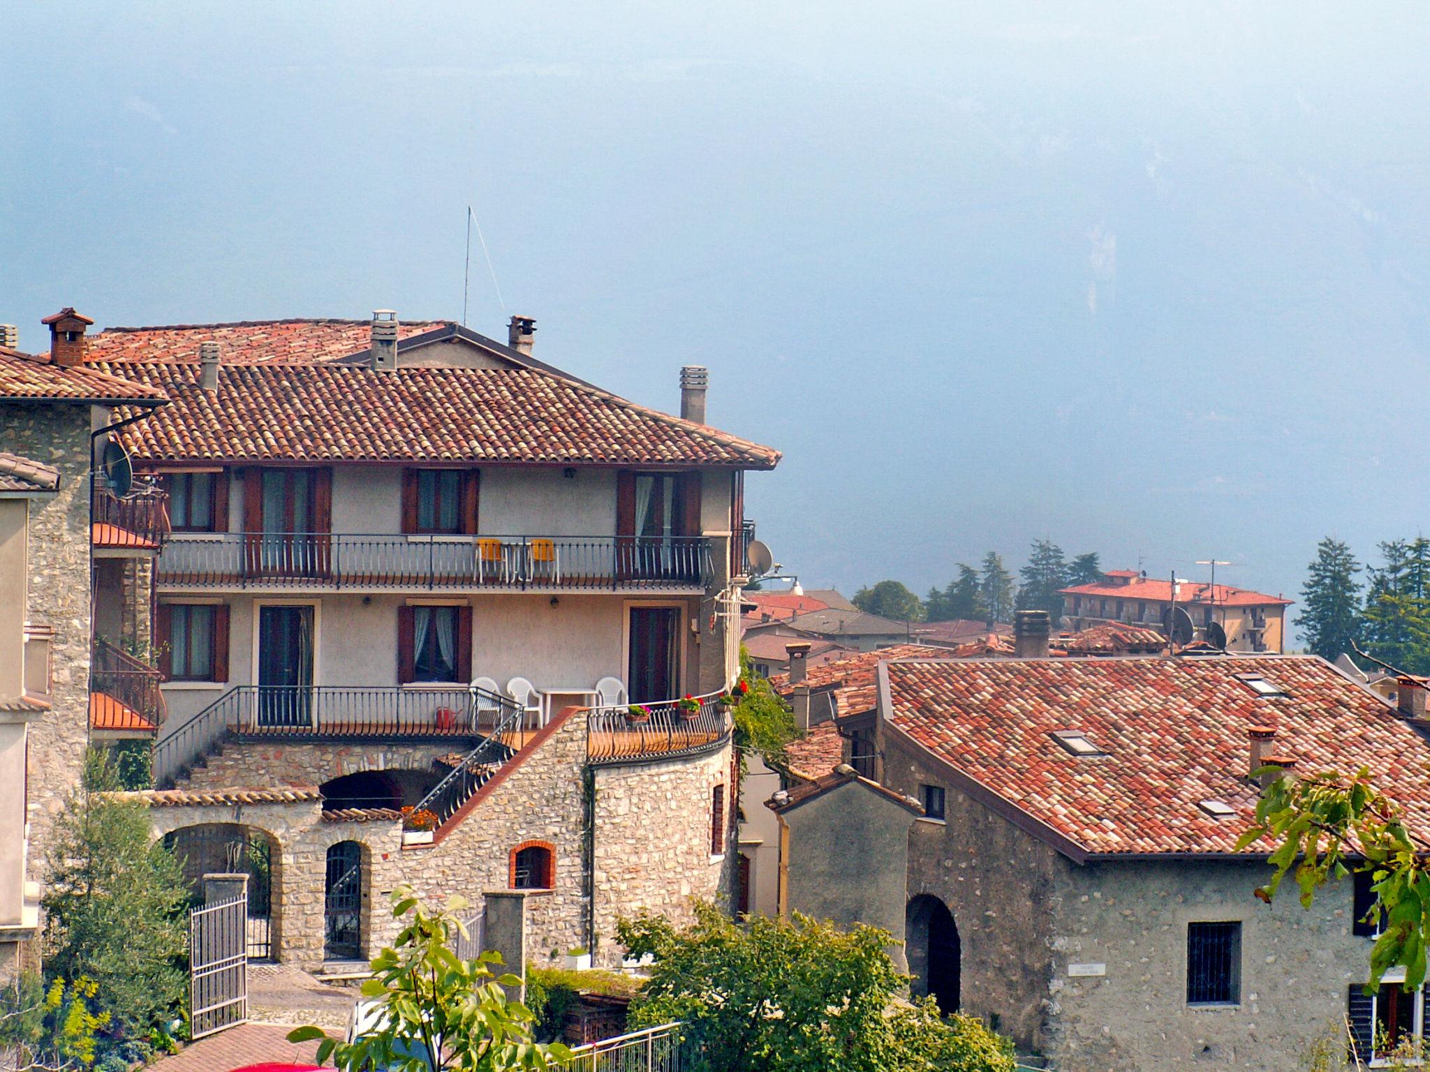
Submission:
[[[398,324],[398,339],[410,339],[449,320]],[[330,362],[370,344],[370,320],[243,320],[226,324],[106,327],[87,339],[89,360],[197,363],[199,343],[216,342],[225,364]]]

